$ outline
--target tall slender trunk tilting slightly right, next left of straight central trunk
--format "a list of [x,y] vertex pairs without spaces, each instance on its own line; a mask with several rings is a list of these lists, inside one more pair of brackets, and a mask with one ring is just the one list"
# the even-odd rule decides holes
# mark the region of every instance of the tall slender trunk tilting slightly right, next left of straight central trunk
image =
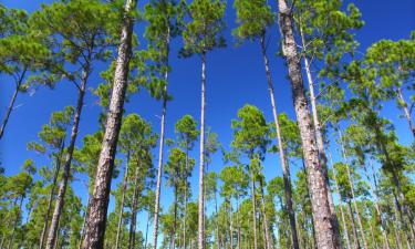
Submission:
[[[170,42],[170,30],[167,29],[167,56],[165,65],[168,66],[168,54],[169,54],[169,42]],[[157,249],[157,238],[158,238],[158,211],[162,194],[162,175],[163,175],[163,153],[164,153],[164,136],[165,136],[165,125],[166,125],[166,114],[167,114],[167,83],[168,83],[168,70],[164,73],[164,80],[166,85],[164,87],[163,97],[163,108],[162,108],[162,121],[160,121],[160,138],[158,145],[158,164],[157,164],[157,183],[156,183],[156,199],[154,205],[154,225],[153,225],[153,249]]]

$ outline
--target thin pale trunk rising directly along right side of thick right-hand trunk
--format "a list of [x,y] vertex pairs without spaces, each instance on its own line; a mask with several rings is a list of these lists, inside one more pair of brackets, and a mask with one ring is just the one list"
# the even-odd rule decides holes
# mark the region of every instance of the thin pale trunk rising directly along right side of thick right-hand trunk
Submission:
[[[305,49],[307,45],[305,45],[304,34],[302,32],[301,25],[300,25],[300,37],[301,37],[302,48],[303,48],[303,51],[304,51],[303,59],[304,59],[304,68],[305,68],[307,80],[309,82],[311,113],[312,113],[312,116],[313,116],[312,120],[313,120],[313,125],[314,125],[314,129],[315,129],[315,144],[317,144],[317,147],[318,147],[318,151],[319,151],[319,158],[320,158],[321,165],[322,165],[323,170],[324,170],[325,180],[326,180],[328,186],[329,186],[329,207],[330,207],[330,212],[332,215],[332,221],[333,221],[333,226],[334,226],[333,228],[335,229],[335,234],[340,235],[339,220],[338,220],[338,217],[335,215],[333,196],[331,195],[331,190],[330,190],[328,157],[326,157],[325,151],[324,151],[323,133],[322,133],[322,127],[321,127],[321,124],[320,124],[320,118],[319,118],[318,110],[317,110],[317,103],[315,103],[317,97],[315,97],[315,94],[314,94],[314,81],[313,81],[313,77],[312,77],[312,74],[311,74],[309,59],[307,58],[307,49]],[[338,242],[339,246],[341,245],[340,237],[338,237],[336,242]]]

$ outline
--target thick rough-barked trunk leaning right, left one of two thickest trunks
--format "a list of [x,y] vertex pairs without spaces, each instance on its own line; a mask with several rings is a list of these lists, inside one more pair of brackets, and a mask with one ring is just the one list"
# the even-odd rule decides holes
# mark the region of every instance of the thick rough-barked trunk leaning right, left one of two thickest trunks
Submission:
[[111,178],[118,134],[123,116],[125,91],[132,56],[132,37],[134,18],[129,14],[135,9],[136,0],[126,0],[123,13],[118,58],[114,73],[114,86],[111,96],[110,111],[105,125],[100,160],[96,169],[95,185],[91,198],[91,207],[86,221],[85,239],[82,248],[101,249],[104,246],[106,212],[108,208]]

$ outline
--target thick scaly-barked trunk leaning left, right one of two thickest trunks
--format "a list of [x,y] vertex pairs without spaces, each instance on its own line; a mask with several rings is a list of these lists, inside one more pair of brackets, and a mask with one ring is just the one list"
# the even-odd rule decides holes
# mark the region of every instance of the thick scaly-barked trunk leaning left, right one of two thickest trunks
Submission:
[[329,186],[324,174],[324,162],[319,159],[315,146],[315,131],[310,120],[310,111],[302,81],[300,58],[294,41],[292,13],[286,0],[278,0],[279,24],[282,34],[282,52],[286,58],[297,120],[299,122],[301,142],[307,166],[307,177],[311,193],[311,204],[317,234],[318,248],[341,248],[334,217],[330,210]]

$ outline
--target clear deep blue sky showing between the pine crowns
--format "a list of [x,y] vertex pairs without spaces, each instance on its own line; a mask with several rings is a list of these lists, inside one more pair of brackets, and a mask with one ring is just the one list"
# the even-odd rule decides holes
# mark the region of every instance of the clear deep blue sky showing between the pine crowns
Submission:
[[[28,11],[39,9],[42,2],[39,0],[2,0],[2,3],[10,8],[22,8]],[[345,1],[346,3],[350,1]],[[415,30],[415,2],[413,0],[388,0],[377,1],[353,1],[363,13],[365,25],[357,31],[356,39],[361,43],[359,50],[365,49],[380,39],[407,39],[411,30]],[[274,4],[274,3],[272,3]],[[143,2],[141,3],[141,7]],[[245,43],[235,45],[231,38],[231,29],[235,28],[235,13],[231,1],[228,1],[226,22],[228,29],[225,31],[228,46],[218,49],[208,54],[207,58],[207,116],[206,123],[211,129],[219,134],[219,141],[228,148],[231,141],[230,121],[236,117],[237,110],[246,103],[258,106],[271,121],[271,106],[267,91],[264,70],[260,48],[258,43]],[[137,31],[142,31],[139,28]],[[142,35],[138,33],[138,35]],[[276,97],[279,112],[286,112],[294,117],[291,100],[291,89],[287,81],[287,69],[281,59],[276,56],[279,43],[278,27],[271,28],[271,43],[269,56],[272,70],[272,77],[276,87]],[[174,123],[185,114],[193,115],[199,120],[200,107],[200,61],[197,56],[191,59],[178,59],[177,51],[181,45],[176,40],[172,51],[172,66],[169,91],[174,100],[168,103],[167,111],[167,137],[174,137]],[[105,70],[102,65],[94,66],[93,76],[89,86],[95,87],[102,80],[100,71]],[[10,79],[0,75],[0,115],[3,116],[4,108],[11,96],[12,84]],[[38,166],[49,165],[44,156],[35,155],[25,149],[30,141],[37,139],[37,134],[42,124],[45,124],[52,112],[62,110],[64,106],[74,105],[76,91],[69,82],[61,82],[55,90],[38,89],[33,94],[21,94],[17,100],[17,108],[13,111],[8,124],[6,135],[0,142],[0,158],[7,175],[13,175],[20,170],[20,166],[27,158],[33,158]],[[91,93],[86,95],[83,110],[77,146],[81,146],[82,137],[97,129],[97,115],[100,106],[96,97]],[[4,106],[4,107],[3,107]],[[159,131],[158,115],[160,103],[152,100],[145,91],[134,95],[126,104],[127,112],[136,112],[153,124],[154,131]],[[388,104],[382,115],[395,124],[400,139],[404,144],[412,143],[409,129],[403,120],[398,118],[398,111],[395,104]],[[155,151],[156,153],[156,151]],[[193,152],[194,158],[198,158],[198,143]],[[214,157],[209,167],[212,170],[220,170],[222,167],[220,155]],[[292,172],[295,166],[292,167]],[[270,179],[281,175],[277,155],[268,155],[264,162],[264,175]],[[197,170],[195,169],[191,186],[194,198],[197,194]],[[113,181],[118,183],[120,179]],[[85,201],[85,191],[80,183],[74,183],[75,191]],[[162,205],[167,208],[172,201],[170,189],[163,188]],[[141,216],[144,225],[146,216]]]

